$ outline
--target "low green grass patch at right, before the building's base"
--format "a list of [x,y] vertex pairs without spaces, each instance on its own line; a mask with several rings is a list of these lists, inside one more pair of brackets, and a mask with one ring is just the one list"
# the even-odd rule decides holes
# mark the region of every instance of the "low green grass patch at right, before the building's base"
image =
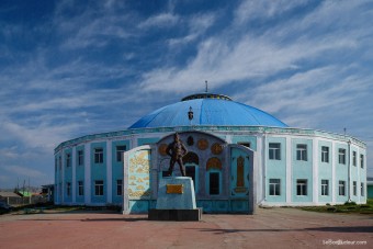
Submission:
[[368,199],[366,204],[346,202],[343,205],[305,206],[301,210],[320,213],[373,214],[373,199]]

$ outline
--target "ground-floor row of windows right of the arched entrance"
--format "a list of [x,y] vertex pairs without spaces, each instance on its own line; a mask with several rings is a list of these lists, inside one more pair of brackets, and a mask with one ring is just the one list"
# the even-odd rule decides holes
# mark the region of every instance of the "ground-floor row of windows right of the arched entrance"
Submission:
[[[307,183],[306,179],[297,179],[296,180],[296,195],[305,196],[307,193]],[[321,180],[321,196],[329,196],[329,180]],[[360,195],[364,196],[364,183],[360,185]],[[352,192],[353,195],[358,195],[358,182],[352,182]],[[346,195],[346,181],[338,182],[338,194],[340,196]],[[270,179],[269,181],[269,195],[271,196],[280,196],[281,195],[281,180],[280,179]]]

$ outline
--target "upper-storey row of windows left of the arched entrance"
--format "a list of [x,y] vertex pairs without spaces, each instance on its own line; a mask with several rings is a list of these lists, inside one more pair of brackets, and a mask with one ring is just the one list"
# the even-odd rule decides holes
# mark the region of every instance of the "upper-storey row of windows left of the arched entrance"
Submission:
[[[116,146],[116,162],[123,162],[123,154],[127,150],[125,145]],[[94,148],[94,163],[103,163],[103,148]],[[57,171],[57,158],[56,158],[56,171]],[[77,150],[77,165],[84,165],[84,154],[83,150]],[[71,167],[71,154],[66,154],[66,167]],[[61,169],[61,157],[59,157],[59,169]]]

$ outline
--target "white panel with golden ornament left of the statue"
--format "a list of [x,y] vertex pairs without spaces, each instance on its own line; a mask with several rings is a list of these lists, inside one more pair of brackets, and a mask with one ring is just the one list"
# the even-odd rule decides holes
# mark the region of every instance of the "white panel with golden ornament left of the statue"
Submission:
[[150,150],[138,150],[129,155],[128,197],[150,197]]

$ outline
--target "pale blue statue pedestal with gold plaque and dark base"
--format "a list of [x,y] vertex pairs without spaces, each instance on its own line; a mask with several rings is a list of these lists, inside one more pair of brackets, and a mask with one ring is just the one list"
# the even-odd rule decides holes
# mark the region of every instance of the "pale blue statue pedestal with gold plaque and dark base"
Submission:
[[201,210],[195,206],[193,181],[189,177],[160,179],[156,210],[150,210],[150,220],[201,220]]

